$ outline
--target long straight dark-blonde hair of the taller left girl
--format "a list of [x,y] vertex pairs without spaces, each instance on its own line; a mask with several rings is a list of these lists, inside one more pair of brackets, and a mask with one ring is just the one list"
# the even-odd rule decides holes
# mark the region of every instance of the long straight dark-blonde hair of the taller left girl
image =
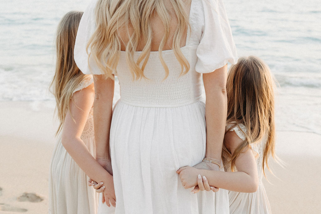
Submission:
[[56,71],[49,86],[56,98],[56,113],[59,119],[56,134],[62,130],[67,111],[70,112],[69,104],[73,91],[89,77],[79,70],[74,61],[74,44],[82,14],[83,12],[76,11],[66,13],[59,22],[56,33]]

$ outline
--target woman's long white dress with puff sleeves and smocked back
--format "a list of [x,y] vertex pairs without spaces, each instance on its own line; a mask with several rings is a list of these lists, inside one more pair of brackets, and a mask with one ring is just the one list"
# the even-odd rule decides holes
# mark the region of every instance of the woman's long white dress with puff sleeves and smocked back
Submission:
[[[95,2],[82,16],[74,49],[75,62],[87,74],[102,73],[86,53],[95,30]],[[237,61],[221,0],[192,0],[189,23],[190,36],[181,48],[190,64],[186,75],[180,76],[181,67],[173,51],[165,50],[162,54],[169,67],[165,81],[158,52],[151,52],[144,71],[149,80],[133,81],[125,52],[120,51],[115,71],[120,99],[110,128],[115,213],[229,213],[227,190],[192,194],[176,174],[180,167],[194,166],[205,156],[201,73]],[[140,53],[135,52],[134,57]],[[98,212],[107,213],[106,208],[100,204]]]

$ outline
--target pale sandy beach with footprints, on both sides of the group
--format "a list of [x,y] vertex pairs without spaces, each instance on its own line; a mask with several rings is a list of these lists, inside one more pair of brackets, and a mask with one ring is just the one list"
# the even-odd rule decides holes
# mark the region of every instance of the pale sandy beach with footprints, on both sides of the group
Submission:
[[[56,143],[51,104],[0,102],[0,213],[47,213]],[[321,213],[320,142],[314,133],[277,132],[277,154],[286,166],[270,161],[277,177],[267,173],[271,183],[264,181],[273,213]]]

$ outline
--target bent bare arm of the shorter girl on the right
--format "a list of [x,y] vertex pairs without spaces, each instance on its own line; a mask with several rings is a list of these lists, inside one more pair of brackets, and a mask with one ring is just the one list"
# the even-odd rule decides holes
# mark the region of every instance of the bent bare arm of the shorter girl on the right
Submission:
[[[224,136],[224,145],[231,154],[242,143],[238,135],[228,132]],[[190,167],[182,167],[178,170],[185,188],[197,185],[197,176],[205,176],[210,186],[227,189],[235,192],[252,193],[258,187],[258,175],[256,161],[251,149],[244,149],[235,161],[237,172],[221,172],[211,170],[198,170]],[[185,171],[185,172],[184,172]]]

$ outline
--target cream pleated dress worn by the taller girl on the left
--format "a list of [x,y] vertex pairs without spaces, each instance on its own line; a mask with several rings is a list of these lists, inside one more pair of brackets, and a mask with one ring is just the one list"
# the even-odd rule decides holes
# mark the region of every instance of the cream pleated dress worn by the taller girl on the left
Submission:
[[[85,79],[74,92],[88,87],[92,82],[92,77]],[[92,113],[91,108],[81,139],[94,155]],[[59,136],[49,171],[49,213],[96,214],[98,194],[92,187],[87,186],[87,180],[88,177],[65,150],[61,143],[61,136]]]

